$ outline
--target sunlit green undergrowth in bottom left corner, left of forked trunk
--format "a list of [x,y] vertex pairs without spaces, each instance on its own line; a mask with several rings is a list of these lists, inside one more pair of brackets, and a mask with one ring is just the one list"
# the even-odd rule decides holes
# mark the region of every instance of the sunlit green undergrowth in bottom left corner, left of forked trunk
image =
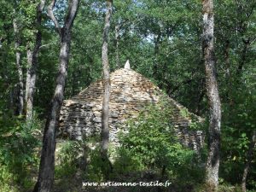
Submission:
[[30,189],[34,184],[31,173],[36,172],[39,162],[36,149],[41,122],[35,118],[26,125],[22,119],[2,117],[0,126],[0,190],[15,191],[15,186]]

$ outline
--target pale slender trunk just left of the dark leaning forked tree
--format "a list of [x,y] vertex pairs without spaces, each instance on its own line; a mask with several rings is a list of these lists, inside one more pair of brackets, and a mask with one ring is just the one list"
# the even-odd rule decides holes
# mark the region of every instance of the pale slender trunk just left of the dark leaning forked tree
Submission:
[[42,23],[42,12],[44,9],[45,0],[41,0],[37,8],[37,28],[36,41],[34,48],[31,49],[28,43],[26,50],[27,72],[26,72],[26,121],[32,120],[33,113],[33,97],[36,88],[37,68],[38,68],[38,53],[42,43],[42,32],[39,29]]

